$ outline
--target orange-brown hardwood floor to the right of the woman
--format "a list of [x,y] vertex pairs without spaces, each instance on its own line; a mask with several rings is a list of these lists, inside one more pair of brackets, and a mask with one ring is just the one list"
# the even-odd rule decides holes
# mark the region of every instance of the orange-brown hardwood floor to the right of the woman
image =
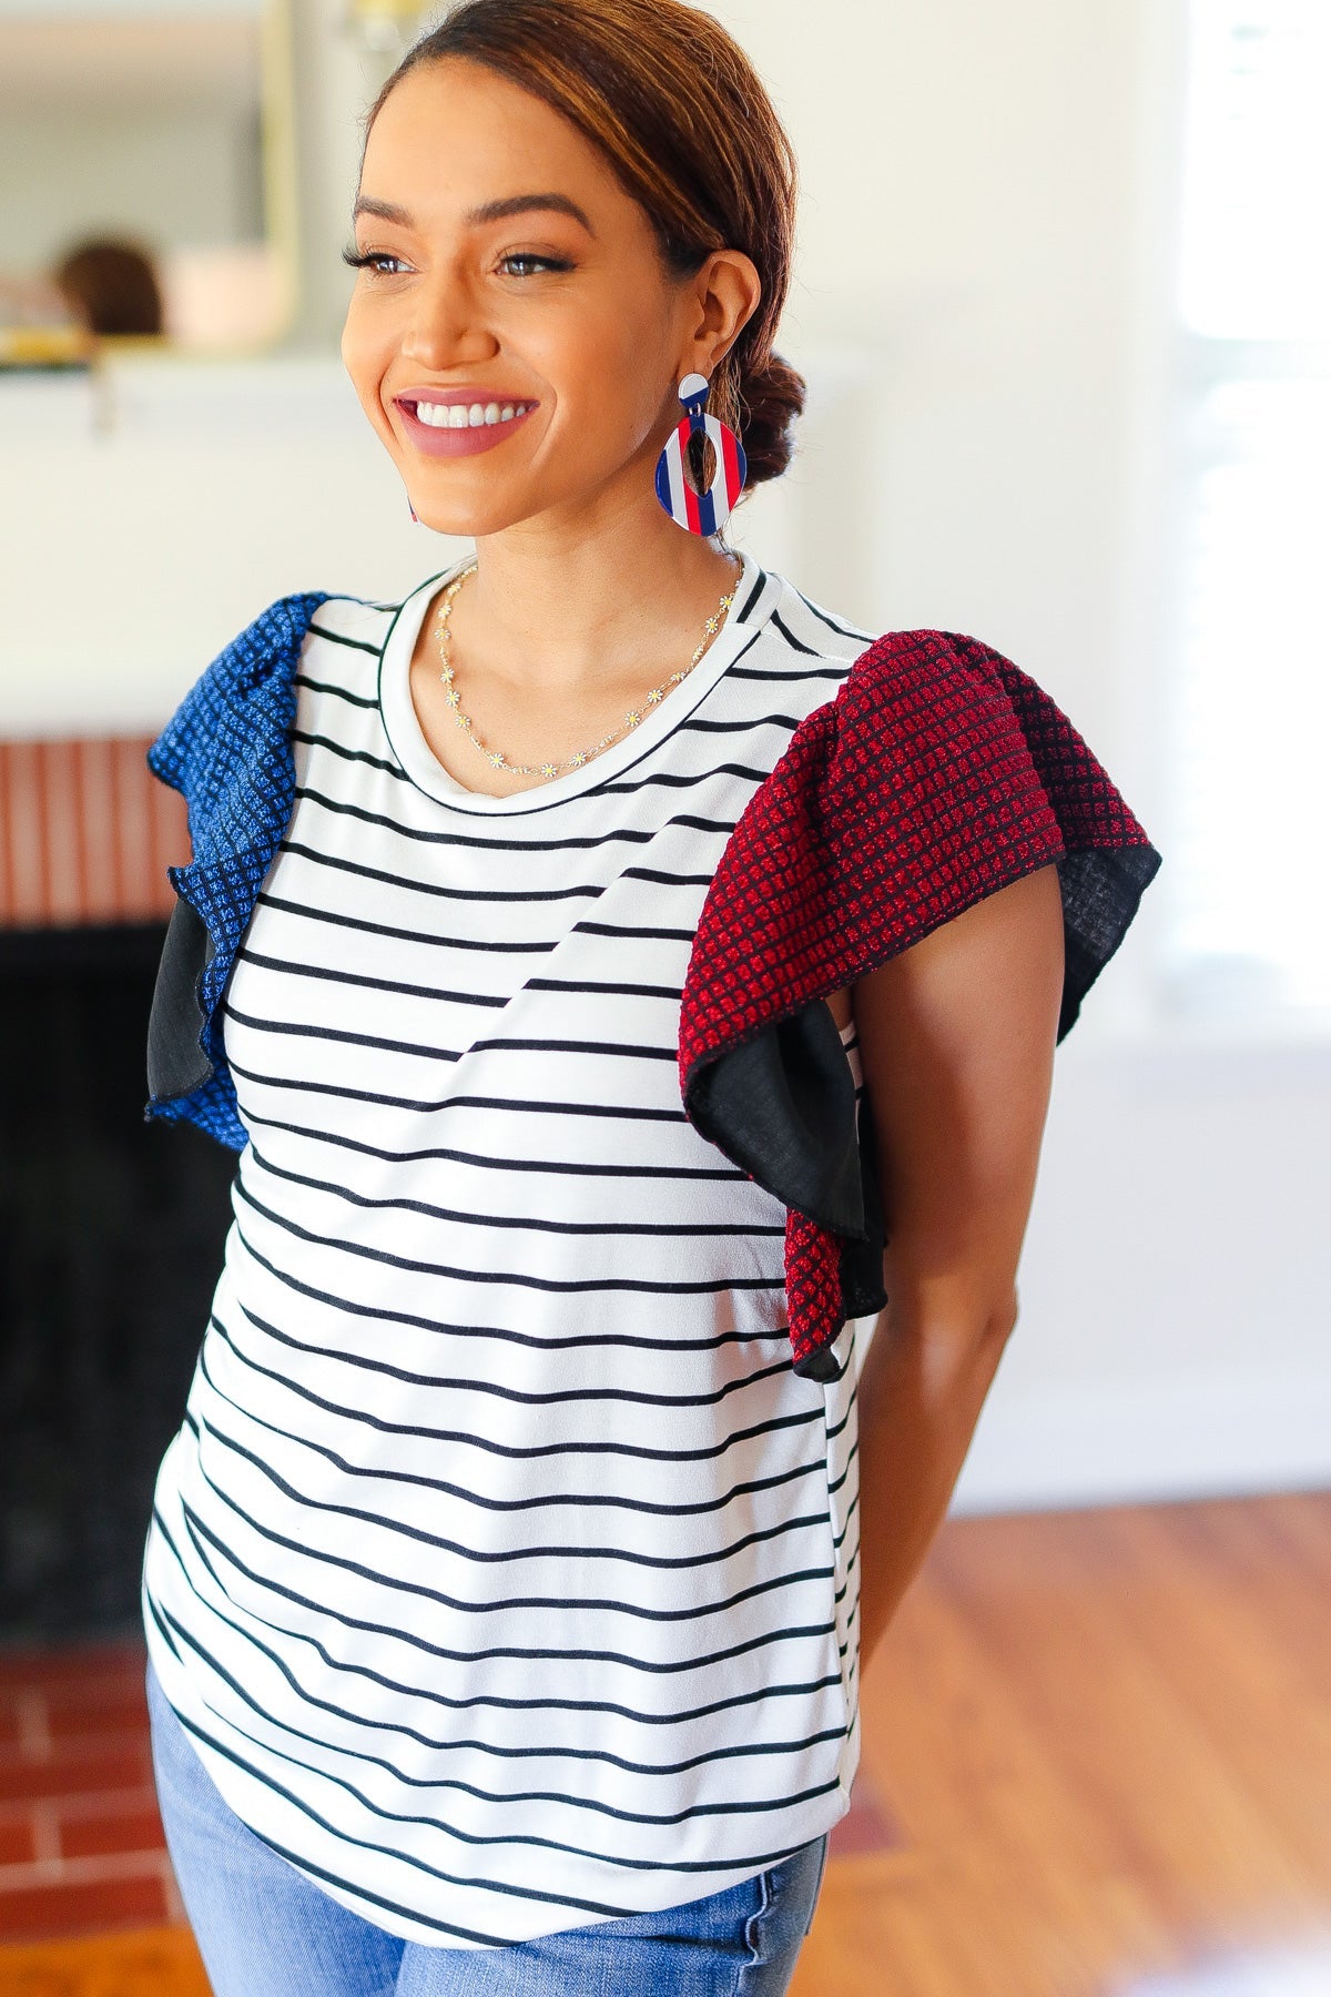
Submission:
[[[1331,1993],[1331,1494],[950,1520],[864,1765],[904,1841],[828,1865],[790,1997]],[[1217,1981],[1299,1937],[1321,1981]]]

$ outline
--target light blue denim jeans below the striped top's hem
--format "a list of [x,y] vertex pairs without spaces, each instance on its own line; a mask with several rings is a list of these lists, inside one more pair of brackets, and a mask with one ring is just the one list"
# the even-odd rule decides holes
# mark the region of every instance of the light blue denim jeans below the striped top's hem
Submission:
[[214,1997],[782,1997],[828,1837],[724,1893],[503,1949],[427,1947],[331,1899],[222,1799],[148,1665],[166,1843]]

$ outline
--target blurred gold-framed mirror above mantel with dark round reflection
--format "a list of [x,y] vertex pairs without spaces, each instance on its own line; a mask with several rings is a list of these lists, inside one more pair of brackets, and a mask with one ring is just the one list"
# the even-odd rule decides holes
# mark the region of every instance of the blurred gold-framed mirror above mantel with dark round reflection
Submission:
[[295,306],[287,0],[0,0],[0,324],[269,345]]

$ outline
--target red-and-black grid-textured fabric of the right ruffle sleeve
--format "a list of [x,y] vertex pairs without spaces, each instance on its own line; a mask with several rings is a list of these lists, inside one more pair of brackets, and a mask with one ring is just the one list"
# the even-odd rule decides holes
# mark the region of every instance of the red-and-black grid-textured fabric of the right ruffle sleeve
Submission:
[[[760,1162],[702,1108],[716,1060],[1050,863],[1064,1040],[1161,855],[1068,715],[992,645],[954,631],[876,639],[796,729],[712,879],[680,1004],[688,1114],[762,1184]],[[852,1314],[840,1270],[842,1238],[788,1208],[796,1372],[828,1376],[816,1354]]]

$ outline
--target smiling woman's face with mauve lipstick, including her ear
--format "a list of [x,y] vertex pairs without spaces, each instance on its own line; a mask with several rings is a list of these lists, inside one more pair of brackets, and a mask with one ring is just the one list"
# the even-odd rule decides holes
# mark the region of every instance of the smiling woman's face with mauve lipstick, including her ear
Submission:
[[670,284],[647,214],[583,134],[457,58],[411,70],[379,110],[355,250],[371,262],[343,361],[439,533],[655,509],[678,377],[710,373],[758,300],[740,252]]

